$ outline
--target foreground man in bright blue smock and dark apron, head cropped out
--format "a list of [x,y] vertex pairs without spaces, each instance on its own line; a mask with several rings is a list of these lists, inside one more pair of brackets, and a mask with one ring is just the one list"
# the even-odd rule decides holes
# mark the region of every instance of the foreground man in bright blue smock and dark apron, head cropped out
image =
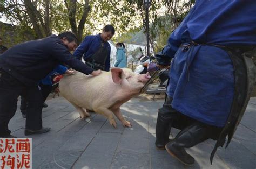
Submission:
[[[227,145],[244,114],[254,84],[256,1],[198,0],[156,55],[170,65],[165,104],[159,109],[156,147],[185,165],[185,151],[208,138]],[[255,53],[254,53],[255,54]],[[169,139],[171,127],[181,131]],[[227,146],[226,145],[226,146]]]

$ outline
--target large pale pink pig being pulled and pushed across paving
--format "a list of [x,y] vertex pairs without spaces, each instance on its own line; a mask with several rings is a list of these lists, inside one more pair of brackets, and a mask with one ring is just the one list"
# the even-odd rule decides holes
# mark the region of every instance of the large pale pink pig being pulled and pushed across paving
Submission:
[[130,128],[131,123],[123,117],[120,106],[138,96],[149,79],[149,73],[135,74],[128,68],[111,68],[110,72],[102,71],[98,76],[76,72],[75,75],[64,76],[60,80],[59,90],[77,109],[80,118],[90,117],[87,111],[95,111],[106,116],[116,128],[114,114],[123,126]]

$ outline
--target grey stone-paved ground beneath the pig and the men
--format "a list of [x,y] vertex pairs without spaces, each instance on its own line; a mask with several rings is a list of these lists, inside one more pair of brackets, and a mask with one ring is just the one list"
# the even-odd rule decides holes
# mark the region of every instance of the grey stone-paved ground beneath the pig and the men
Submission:
[[[133,98],[122,106],[123,115],[132,128],[117,129],[105,117],[91,113],[83,121],[63,97],[47,100],[43,125],[51,131],[32,135],[32,168],[256,168],[256,97],[252,97],[232,142],[219,148],[213,164],[210,153],[213,140],[188,150],[196,163],[187,167],[166,151],[154,147],[157,110],[163,99]],[[18,107],[19,109],[19,107]],[[25,121],[17,110],[9,128],[12,134],[24,136]],[[177,133],[172,129],[172,135]]]

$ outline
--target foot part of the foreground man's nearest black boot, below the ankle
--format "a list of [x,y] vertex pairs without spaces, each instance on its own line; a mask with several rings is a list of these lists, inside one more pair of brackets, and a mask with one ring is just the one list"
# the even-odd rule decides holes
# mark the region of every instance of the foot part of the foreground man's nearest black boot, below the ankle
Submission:
[[185,165],[193,165],[194,158],[183,147],[173,145],[173,141],[165,145],[166,151]]

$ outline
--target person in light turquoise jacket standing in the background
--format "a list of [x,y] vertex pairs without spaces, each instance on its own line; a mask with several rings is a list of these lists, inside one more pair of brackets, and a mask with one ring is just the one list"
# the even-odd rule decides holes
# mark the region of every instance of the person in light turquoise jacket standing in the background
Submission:
[[117,53],[116,53],[117,61],[114,64],[114,67],[119,67],[119,68],[127,67],[126,55],[125,55],[126,49],[125,49],[124,43],[117,43],[116,47],[117,47]]

